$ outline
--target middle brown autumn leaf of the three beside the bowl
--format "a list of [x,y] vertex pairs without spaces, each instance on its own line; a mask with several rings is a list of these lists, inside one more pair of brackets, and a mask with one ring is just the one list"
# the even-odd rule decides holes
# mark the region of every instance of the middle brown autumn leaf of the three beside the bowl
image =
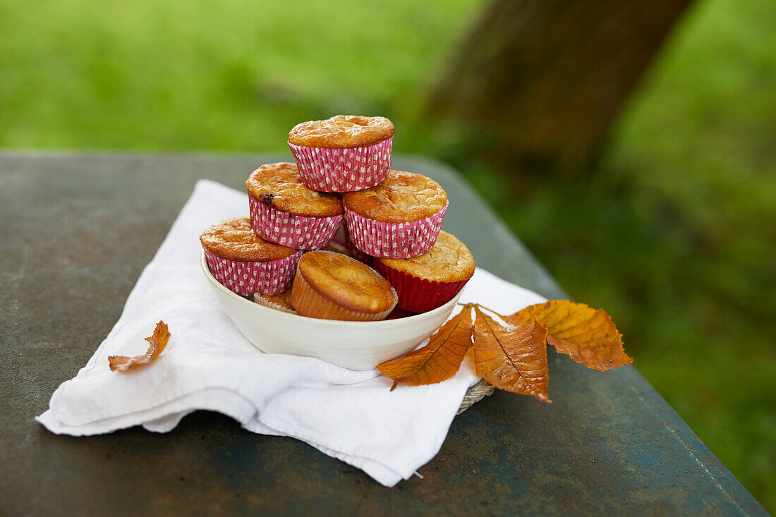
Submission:
[[500,390],[552,402],[547,393],[547,326],[514,324],[507,328],[475,307],[474,357],[477,375]]

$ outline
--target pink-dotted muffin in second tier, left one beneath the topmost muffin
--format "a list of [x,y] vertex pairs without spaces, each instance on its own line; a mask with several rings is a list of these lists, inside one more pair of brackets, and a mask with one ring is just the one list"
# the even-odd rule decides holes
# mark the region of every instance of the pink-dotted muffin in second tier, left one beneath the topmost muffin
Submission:
[[245,181],[251,224],[259,237],[294,249],[319,249],[342,219],[338,194],[308,189],[293,163],[257,168]]

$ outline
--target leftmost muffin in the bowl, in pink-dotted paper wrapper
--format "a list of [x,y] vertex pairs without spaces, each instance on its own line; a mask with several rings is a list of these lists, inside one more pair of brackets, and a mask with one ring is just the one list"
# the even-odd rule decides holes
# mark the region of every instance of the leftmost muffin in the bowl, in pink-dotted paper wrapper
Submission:
[[302,252],[258,237],[248,217],[214,224],[199,241],[213,276],[241,296],[282,293],[291,285],[302,256]]

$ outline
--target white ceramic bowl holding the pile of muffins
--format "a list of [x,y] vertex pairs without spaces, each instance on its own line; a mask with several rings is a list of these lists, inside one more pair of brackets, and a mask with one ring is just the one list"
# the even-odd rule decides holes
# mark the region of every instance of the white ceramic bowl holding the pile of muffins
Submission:
[[218,302],[237,328],[262,352],[309,356],[350,370],[372,370],[428,338],[449,317],[461,293],[433,311],[385,321],[335,321],[262,307],[222,286],[210,274],[205,253],[202,270]]

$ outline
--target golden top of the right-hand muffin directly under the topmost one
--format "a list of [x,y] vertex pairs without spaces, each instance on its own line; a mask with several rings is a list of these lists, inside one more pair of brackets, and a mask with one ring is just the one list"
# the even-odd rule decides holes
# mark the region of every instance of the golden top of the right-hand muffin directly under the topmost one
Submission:
[[342,195],[345,208],[369,219],[402,223],[425,219],[445,206],[447,193],[437,182],[414,172],[391,171],[386,180]]

